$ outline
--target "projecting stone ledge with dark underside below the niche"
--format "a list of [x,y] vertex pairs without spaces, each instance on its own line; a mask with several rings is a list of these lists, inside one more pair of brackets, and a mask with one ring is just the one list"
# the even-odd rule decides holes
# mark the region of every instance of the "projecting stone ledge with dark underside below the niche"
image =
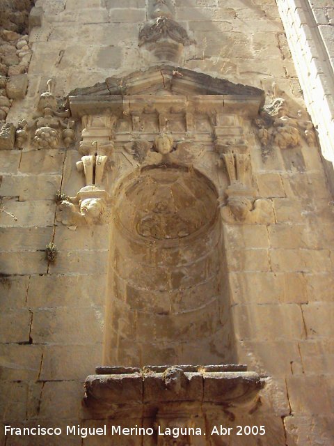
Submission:
[[[235,410],[255,410],[264,380],[243,365],[147,366],[143,369],[98,367],[86,378],[88,417],[104,419],[131,413],[155,417],[175,413],[198,417],[216,407],[234,417]],[[176,405],[175,405],[176,403]]]

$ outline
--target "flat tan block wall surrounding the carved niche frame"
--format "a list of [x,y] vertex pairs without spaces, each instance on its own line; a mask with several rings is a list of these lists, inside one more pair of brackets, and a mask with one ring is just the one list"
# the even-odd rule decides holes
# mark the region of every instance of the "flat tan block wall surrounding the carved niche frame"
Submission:
[[[37,0],[43,19],[29,34],[26,98],[13,98],[10,109],[6,102],[6,122],[29,121],[50,78],[61,102],[73,89],[156,64],[150,52],[138,47],[139,30],[149,18],[147,3],[80,0],[78,8],[77,0]],[[267,436],[257,444],[330,445],[333,197],[319,146],[312,134],[305,136],[312,126],[278,8],[274,0],[175,0],[175,19],[196,41],[184,47],[180,67],[259,87],[268,104],[285,100],[284,112],[269,114],[269,107],[268,114],[258,116],[260,128],[245,125],[255,196],[269,201],[273,217],[251,224],[222,220],[228,312],[237,360],[267,382],[262,408],[247,418],[267,426]],[[22,29],[2,36],[17,31]],[[24,40],[13,40],[17,50]],[[13,60],[20,57],[14,44],[3,45],[10,45]],[[289,128],[298,129],[293,132],[297,144],[274,144],[276,118],[289,119]],[[29,145],[0,151],[1,208],[6,210],[0,212],[0,413],[1,422],[12,426],[81,422],[84,380],[102,363],[111,270],[108,225],[72,231],[56,221],[56,192],[73,197],[84,185],[76,169],[79,130],[80,125],[76,146],[69,149]],[[264,134],[267,143],[261,141]],[[216,167],[211,174],[217,175]],[[58,250],[55,263],[46,259],[49,243]],[[131,331],[131,326],[124,329]],[[82,425],[99,424],[87,417]],[[108,440],[61,436],[49,443],[88,446]],[[231,444],[255,442],[237,440]],[[45,445],[45,438],[33,442]],[[30,445],[31,438],[5,438],[1,429],[0,443]]]

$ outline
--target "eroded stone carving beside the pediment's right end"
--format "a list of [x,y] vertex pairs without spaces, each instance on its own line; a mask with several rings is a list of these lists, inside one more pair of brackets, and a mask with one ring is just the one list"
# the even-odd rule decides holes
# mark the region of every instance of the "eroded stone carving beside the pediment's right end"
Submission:
[[311,121],[302,118],[302,112],[292,114],[283,98],[274,99],[260,112],[260,118],[255,119],[257,136],[263,147],[270,145],[279,148],[293,148],[305,139],[308,145],[315,144],[315,132]]

